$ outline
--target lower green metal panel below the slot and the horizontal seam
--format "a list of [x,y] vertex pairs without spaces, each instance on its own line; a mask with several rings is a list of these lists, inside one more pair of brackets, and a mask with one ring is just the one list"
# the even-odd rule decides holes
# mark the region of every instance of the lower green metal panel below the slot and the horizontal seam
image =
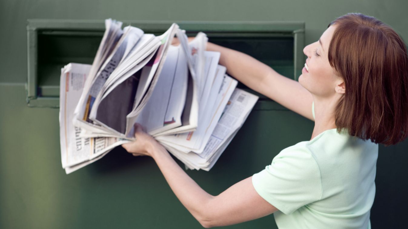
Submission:
[[[133,157],[119,147],[66,175],[58,109],[27,107],[24,96],[23,85],[0,84],[5,106],[0,113],[0,228],[201,227],[150,158]],[[188,174],[219,194],[262,170],[283,148],[309,140],[313,122],[270,109],[262,103],[255,107],[210,172]],[[274,228],[273,216],[228,228]]]

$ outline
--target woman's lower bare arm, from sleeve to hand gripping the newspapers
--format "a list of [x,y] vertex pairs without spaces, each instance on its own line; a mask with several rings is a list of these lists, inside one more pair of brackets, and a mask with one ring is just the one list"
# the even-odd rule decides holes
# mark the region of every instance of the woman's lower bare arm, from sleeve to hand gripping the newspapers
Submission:
[[267,216],[277,209],[255,191],[248,177],[217,196],[205,192],[153,137],[136,126],[136,141],[122,145],[133,155],[149,155],[171,190],[203,227],[237,224]]

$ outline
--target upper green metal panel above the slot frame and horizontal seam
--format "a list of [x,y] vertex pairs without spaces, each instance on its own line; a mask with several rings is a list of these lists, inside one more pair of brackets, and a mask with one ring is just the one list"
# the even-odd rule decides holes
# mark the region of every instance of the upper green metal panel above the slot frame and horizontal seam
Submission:
[[349,12],[375,16],[408,40],[406,9],[406,0],[1,0],[0,82],[26,82],[27,19],[304,21],[310,44],[329,22]]

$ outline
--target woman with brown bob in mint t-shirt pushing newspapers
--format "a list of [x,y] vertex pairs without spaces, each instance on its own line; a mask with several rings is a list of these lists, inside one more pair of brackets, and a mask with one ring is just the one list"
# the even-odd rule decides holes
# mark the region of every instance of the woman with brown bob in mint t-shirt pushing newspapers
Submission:
[[261,172],[212,196],[150,135],[123,147],[153,157],[177,198],[204,226],[275,213],[279,228],[370,228],[378,143],[408,134],[408,58],[404,42],[373,17],[350,13],[331,22],[307,56],[299,82],[243,53],[221,52],[229,74],[315,121],[310,141],[282,150]]

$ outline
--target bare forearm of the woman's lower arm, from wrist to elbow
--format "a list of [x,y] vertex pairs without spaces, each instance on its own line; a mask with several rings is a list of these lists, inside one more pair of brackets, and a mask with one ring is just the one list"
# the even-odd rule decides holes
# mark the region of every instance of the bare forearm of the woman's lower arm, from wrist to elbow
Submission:
[[174,161],[169,152],[159,143],[150,148],[151,156],[163,173],[171,190],[187,208],[187,210],[203,225],[206,221],[206,205],[214,196],[205,192],[186,172]]

